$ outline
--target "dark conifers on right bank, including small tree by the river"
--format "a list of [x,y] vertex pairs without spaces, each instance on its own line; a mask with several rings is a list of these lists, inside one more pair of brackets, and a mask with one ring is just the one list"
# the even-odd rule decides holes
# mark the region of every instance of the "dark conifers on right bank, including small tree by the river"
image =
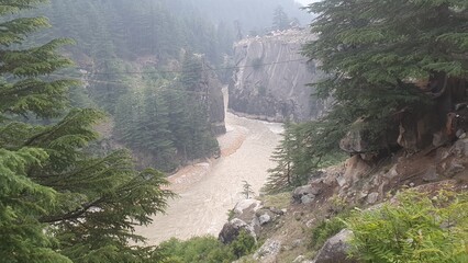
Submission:
[[[267,184],[272,192],[304,183],[344,153],[376,160],[401,148],[419,151],[436,133],[443,144],[454,139],[445,126],[447,114],[466,103],[467,3],[392,1],[361,8],[360,1],[338,0],[308,7],[319,15],[311,31],[320,37],[302,53],[322,61],[328,78],[312,84],[334,103],[317,122],[286,124]],[[413,127],[423,117],[431,122]],[[343,139],[349,137],[365,146],[346,148]]]

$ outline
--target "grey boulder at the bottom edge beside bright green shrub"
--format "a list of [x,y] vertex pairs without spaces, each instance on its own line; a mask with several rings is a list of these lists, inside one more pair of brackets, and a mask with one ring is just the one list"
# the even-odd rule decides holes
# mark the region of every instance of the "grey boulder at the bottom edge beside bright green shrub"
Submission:
[[352,231],[343,229],[326,240],[312,263],[357,263],[356,260],[347,258],[350,248],[348,241],[352,237]]

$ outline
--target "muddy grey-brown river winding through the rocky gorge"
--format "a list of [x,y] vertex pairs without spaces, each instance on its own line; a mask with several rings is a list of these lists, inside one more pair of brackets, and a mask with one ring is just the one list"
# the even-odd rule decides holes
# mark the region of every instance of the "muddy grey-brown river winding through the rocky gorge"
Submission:
[[179,197],[169,201],[165,215],[156,215],[153,224],[137,229],[148,244],[171,237],[218,236],[227,211],[245,198],[243,181],[255,194],[275,163],[270,156],[280,140],[281,124],[266,123],[226,114],[227,133],[218,138],[221,157],[181,169],[169,178],[170,188]]

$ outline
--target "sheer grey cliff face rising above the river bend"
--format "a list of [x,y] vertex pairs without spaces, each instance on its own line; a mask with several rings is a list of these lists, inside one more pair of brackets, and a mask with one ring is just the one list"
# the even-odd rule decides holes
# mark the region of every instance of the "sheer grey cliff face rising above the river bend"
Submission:
[[317,61],[300,55],[312,39],[308,31],[275,32],[234,45],[237,70],[230,84],[229,107],[239,115],[281,122],[310,121],[321,116],[326,102],[312,96],[308,83],[323,77]]

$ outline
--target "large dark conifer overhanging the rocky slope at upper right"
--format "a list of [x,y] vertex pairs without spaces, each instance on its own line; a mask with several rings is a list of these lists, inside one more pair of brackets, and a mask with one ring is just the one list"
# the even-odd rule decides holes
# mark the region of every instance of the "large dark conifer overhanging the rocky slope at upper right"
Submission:
[[[403,107],[431,105],[431,91],[420,79],[466,79],[468,76],[468,3],[466,1],[320,1],[309,5],[319,16],[319,38],[303,54],[322,62],[328,78],[316,83],[335,106],[311,134],[333,135],[333,144],[364,117],[368,142],[381,147],[393,116]],[[444,81],[439,81],[444,82]],[[447,112],[441,110],[442,125]],[[335,146],[315,140],[326,152]]]

